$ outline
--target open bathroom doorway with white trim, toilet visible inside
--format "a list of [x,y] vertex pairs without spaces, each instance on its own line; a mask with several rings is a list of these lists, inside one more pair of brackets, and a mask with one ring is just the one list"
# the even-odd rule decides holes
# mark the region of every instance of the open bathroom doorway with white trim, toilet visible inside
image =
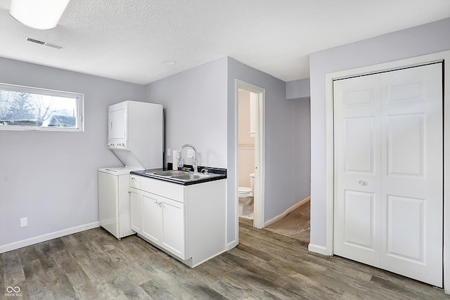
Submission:
[[236,80],[237,214],[264,227],[264,89]]

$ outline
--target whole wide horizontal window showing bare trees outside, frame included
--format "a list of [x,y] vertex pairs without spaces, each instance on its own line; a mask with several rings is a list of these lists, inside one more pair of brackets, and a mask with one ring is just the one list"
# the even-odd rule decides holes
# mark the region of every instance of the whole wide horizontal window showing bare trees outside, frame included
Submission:
[[0,84],[0,130],[83,131],[83,94]]

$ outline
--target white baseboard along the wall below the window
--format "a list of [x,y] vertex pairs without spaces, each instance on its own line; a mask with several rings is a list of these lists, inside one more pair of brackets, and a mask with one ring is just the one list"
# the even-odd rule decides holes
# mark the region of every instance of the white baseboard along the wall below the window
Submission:
[[100,222],[93,222],[88,223],[72,228],[67,228],[59,231],[55,231],[54,233],[46,233],[45,235],[39,235],[37,237],[30,237],[26,240],[20,240],[17,242],[11,242],[10,244],[4,244],[3,246],[0,246],[0,253],[8,252],[11,250],[19,249],[22,247],[27,247],[32,244],[37,244],[39,242],[46,242],[48,240],[53,240],[58,237],[63,237],[65,235],[72,235],[73,233],[79,233],[84,230],[89,230],[92,228],[100,227]]

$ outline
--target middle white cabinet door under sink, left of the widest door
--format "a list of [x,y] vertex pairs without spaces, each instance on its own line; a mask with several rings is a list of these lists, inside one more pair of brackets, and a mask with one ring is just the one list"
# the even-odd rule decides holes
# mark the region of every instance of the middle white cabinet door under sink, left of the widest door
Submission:
[[141,191],[141,234],[151,242],[160,244],[162,204],[156,197],[158,196]]

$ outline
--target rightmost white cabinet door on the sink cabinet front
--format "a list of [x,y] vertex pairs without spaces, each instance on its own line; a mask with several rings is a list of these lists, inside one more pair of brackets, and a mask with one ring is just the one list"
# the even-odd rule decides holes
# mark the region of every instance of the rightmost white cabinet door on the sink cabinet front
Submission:
[[184,204],[165,199],[161,205],[161,245],[172,254],[186,259]]

